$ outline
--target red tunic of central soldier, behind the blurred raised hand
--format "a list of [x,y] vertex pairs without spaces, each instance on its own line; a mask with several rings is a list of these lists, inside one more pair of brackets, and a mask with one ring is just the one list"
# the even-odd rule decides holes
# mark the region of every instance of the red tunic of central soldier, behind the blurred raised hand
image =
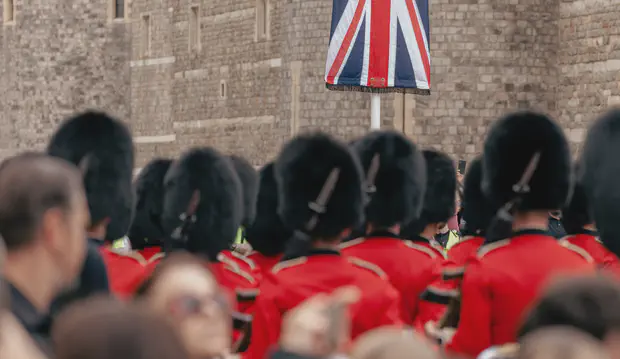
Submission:
[[400,298],[381,278],[379,268],[359,259],[349,260],[334,251],[316,251],[307,257],[282,262],[266,273],[256,301],[250,348],[245,359],[263,359],[280,336],[283,315],[318,293],[355,285],[360,300],[350,308],[351,334],[385,325],[401,326]]

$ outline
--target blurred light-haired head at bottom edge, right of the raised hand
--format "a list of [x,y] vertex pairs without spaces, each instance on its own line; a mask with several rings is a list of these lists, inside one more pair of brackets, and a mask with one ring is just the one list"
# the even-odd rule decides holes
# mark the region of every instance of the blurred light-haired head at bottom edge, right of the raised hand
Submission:
[[438,359],[438,352],[412,330],[379,328],[360,336],[351,359]]

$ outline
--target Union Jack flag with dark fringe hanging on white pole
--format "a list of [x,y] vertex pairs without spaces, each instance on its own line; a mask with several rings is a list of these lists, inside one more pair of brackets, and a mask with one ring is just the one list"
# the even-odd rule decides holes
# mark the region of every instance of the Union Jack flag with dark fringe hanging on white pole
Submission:
[[429,0],[333,0],[332,90],[430,94]]

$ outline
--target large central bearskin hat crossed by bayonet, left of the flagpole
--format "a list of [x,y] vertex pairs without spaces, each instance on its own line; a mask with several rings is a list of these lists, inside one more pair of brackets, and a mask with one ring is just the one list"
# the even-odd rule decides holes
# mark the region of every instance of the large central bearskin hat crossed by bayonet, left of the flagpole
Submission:
[[[336,170],[336,171],[334,171]],[[274,164],[284,224],[312,238],[334,238],[362,223],[365,194],[357,157],[346,144],[324,133],[292,139]],[[333,192],[324,208],[314,206],[328,179],[337,174]],[[319,213],[311,230],[308,222]]]

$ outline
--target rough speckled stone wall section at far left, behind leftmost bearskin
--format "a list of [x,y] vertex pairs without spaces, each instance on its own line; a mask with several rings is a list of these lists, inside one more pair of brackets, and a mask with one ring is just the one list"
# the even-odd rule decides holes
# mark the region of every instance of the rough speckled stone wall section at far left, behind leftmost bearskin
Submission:
[[0,26],[0,157],[43,148],[75,111],[130,118],[131,41],[107,0],[15,1],[15,10]]

